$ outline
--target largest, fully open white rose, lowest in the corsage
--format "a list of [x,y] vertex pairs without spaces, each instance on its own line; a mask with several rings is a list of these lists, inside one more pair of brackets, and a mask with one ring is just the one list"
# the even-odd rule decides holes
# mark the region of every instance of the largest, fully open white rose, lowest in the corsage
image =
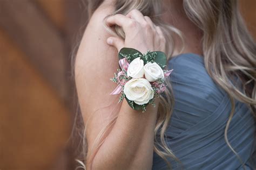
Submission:
[[148,103],[154,97],[154,90],[149,81],[138,78],[125,83],[124,94],[130,101],[142,105]]

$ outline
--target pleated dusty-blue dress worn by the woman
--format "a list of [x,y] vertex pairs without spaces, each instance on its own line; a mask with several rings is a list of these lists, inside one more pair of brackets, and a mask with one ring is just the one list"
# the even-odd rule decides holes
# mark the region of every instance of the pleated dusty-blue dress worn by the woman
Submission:
[[[208,75],[203,56],[180,54],[169,60],[168,67],[173,69],[170,81],[175,99],[166,141],[183,169],[243,169],[224,138],[230,100]],[[252,158],[256,148],[254,131],[250,109],[235,101],[235,114],[227,136],[246,169],[256,168],[256,160]],[[182,169],[175,160],[169,158],[169,162],[173,169]],[[156,152],[152,169],[168,169]]]

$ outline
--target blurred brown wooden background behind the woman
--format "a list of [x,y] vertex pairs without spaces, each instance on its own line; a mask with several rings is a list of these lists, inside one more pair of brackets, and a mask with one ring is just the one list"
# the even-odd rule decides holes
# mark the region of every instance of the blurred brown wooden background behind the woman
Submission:
[[[256,38],[256,0],[240,0]],[[75,169],[71,55],[83,0],[0,0],[0,169]]]

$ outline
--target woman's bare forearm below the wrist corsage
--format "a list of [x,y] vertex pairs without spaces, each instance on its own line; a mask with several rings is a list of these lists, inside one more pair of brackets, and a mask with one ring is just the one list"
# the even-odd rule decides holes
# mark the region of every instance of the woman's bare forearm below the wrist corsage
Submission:
[[117,121],[92,162],[92,169],[150,169],[153,157],[156,107],[146,112],[130,108],[123,101]]

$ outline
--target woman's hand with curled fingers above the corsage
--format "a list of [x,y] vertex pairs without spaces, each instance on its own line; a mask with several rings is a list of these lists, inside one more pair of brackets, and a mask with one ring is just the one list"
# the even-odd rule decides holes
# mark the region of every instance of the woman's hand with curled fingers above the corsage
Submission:
[[143,16],[139,10],[133,9],[126,16],[111,16],[106,22],[109,26],[121,26],[125,32],[125,40],[120,37],[107,39],[107,44],[116,47],[118,52],[123,47],[135,48],[142,53],[148,50],[165,52],[166,41],[160,27],[154,25],[152,20]]

